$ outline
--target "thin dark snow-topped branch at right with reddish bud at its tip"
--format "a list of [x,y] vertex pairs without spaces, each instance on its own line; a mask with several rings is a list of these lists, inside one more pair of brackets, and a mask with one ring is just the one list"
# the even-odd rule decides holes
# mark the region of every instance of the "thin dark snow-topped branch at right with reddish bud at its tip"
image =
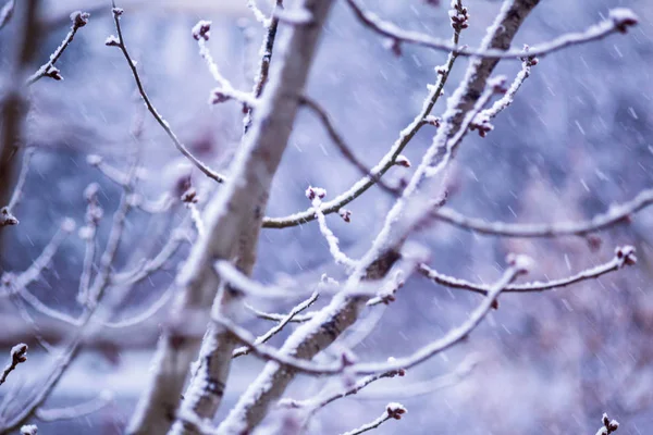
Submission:
[[[607,273],[618,271],[619,269],[623,269],[626,265],[633,265],[636,262],[637,257],[634,256],[633,247],[619,247],[615,249],[615,257],[606,263],[599,264],[594,268],[586,269],[575,275],[559,279],[551,279],[543,283],[530,282],[522,284],[510,284],[505,288],[504,293],[545,291],[555,288],[566,287],[571,284],[597,278]],[[488,293],[490,291],[490,287],[486,285],[475,284],[465,279],[445,275],[429,268],[423,263],[419,265],[419,272],[427,278],[433,281],[435,284],[440,284],[446,287],[470,290],[475,293],[480,293],[481,295],[488,295]]]

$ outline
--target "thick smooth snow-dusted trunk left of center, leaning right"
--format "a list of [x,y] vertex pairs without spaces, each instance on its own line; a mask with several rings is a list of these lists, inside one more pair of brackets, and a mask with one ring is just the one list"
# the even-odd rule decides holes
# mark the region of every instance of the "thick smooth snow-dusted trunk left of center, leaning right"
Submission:
[[[304,0],[297,8],[308,11],[309,23],[293,25],[279,40],[279,58],[270,72],[270,82],[254,114],[254,124],[232,165],[230,181],[218,189],[207,207],[206,235],[194,247],[177,276],[178,298],[165,326],[155,357],[149,388],[140,398],[128,426],[130,434],[163,434],[173,423],[189,364],[200,346],[200,331],[209,321],[211,303],[220,286],[213,264],[238,256],[238,266],[249,272],[255,260],[263,211],[272,178],[292,132],[299,97],[331,0]],[[238,303],[231,291],[222,291],[217,306],[229,313]],[[217,376],[206,383],[196,376],[188,402],[202,417],[212,417],[226,381],[232,340],[224,334],[207,337],[201,355],[213,364],[206,375]],[[199,389],[197,389],[199,388]]]

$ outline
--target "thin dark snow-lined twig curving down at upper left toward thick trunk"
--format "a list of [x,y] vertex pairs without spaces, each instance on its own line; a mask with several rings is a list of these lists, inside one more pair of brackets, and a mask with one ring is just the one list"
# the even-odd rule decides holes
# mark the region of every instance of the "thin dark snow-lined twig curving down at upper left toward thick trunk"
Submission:
[[107,41],[104,44],[109,47],[119,47],[120,48],[125,60],[127,61],[127,65],[130,66],[130,70],[132,71],[132,75],[134,76],[134,80],[136,82],[136,87],[138,88],[138,92],[140,94],[140,97],[143,98],[143,101],[145,102],[147,110],[151,113],[151,115],[155,117],[155,120],[161,126],[161,128],[163,128],[163,130],[165,132],[168,137],[170,137],[170,139],[172,140],[172,142],[174,144],[176,149],[182,154],[184,154],[186,157],[186,159],[188,159],[206,176],[208,176],[209,178],[211,178],[218,183],[223,183],[224,177],[222,175],[220,175],[215,171],[211,170],[204,162],[201,162],[199,159],[197,159],[188,150],[188,148],[186,148],[186,146],[184,146],[184,144],[181,142],[181,140],[177,138],[177,136],[174,134],[174,132],[170,127],[170,124],[168,123],[168,121],[165,121],[163,119],[163,116],[161,116],[161,114],[159,113],[157,108],[155,108],[155,105],[150,101],[147,92],[145,91],[143,82],[140,80],[140,75],[138,74],[138,71],[136,70],[136,63],[132,60],[132,57],[130,55],[130,52],[127,51],[127,47],[125,45],[122,28],[120,25],[120,17],[123,13],[124,13],[124,11],[120,8],[115,8],[115,2],[113,2],[113,22],[115,24],[115,30],[118,33],[118,38],[112,35],[109,38],[107,38]]

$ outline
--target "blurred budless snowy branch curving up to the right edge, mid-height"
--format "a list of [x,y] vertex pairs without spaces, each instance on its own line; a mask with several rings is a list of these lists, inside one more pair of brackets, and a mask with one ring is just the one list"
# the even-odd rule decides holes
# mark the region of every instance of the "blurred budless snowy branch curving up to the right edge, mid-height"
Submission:
[[431,215],[443,222],[464,229],[493,236],[505,237],[558,237],[584,236],[589,233],[630,222],[630,216],[653,203],[653,189],[643,189],[630,201],[613,204],[604,213],[596,214],[587,221],[568,221],[553,224],[513,224],[506,222],[489,222],[484,219],[469,217],[451,208],[433,210]]

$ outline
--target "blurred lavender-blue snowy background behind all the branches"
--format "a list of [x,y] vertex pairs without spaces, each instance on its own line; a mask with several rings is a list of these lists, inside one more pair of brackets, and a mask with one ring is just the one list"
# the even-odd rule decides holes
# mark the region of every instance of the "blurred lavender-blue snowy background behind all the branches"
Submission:
[[[198,20],[212,21],[208,46],[217,63],[235,87],[249,90],[263,29],[245,3],[119,2],[125,10],[122,24],[126,44],[155,104],[182,141],[222,172],[239,144],[242,108],[235,102],[208,103],[215,85],[198,54],[190,28]],[[259,3],[269,11],[266,0]],[[361,1],[404,28],[449,38],[447,2],[428,3],[432,2]],[[463,3],[469,9],[470,28],[464,30],[461,42],[477,47],[501,2]],[[22,201],[14,210],[21,223],[1,229],[0,272],[27,269],[64,217],[82,226],[84,190],[90,183],[100,185],[99,200],[106,214],[100,240],[104,243],[120,188],[87,163],[89,154],[101,156],[108,164],[125,171],[127,151],[137,147],[144,165],[137,190],[151,200],[174,194],[180,178],[188,173],[198,188],[200,206],[211,192],[202,175],[188,169],[164,132],[144,111],[120,50],[104,46],[104,39],[115,33],[108,4],[95,0],[42,2],[40,18],[47,25],[35,71],[65,36],[71,12],[84,10],[91,15],[57,63],[64,80],[44,78],[28,88],[26,137],[36,153]],[[448,202],[452,208],[491,221],[580,220],[653,186],[650,2],[543,1],[527,18],[514,47],[582,30],[617,7],[631,8],[640,24],[628,35],[542,58],[514,104],[494,122],[495,129],[486,138],[468,135],[455,162]],[[11,22],[0,33],[3,87],[14,59],[12,47],[17,32],[15,22]],[[435,82],[434,67],[444,64],[445,59],[444,52],[407,45],[402,55],[395,55],[338,1],[323,34],[308,95],[328,110],[357,156],[372,166],[419,111],[427,85]],[[466,59],[457,61],[445,97],[457,86],[467,63]],[[512,80],[519,69],[519,62],[502,61],[496,73]],[[441,99],[433,114],[440,115],[444,105],[445,99]],[[141,127],[140,135],[134,134],[135,125]],[[420,130],[404,152],[410,161],[420,160],[433,134],[432,127]],[[387,176],[398,179],[411,171],[394,167]],[[310,204],[304,190],[308,185],[325,188],[330,199],[358,178],[358,171],[332,146],[321,124],[303,111],[274,182],[268,215],[307,209]],[[353,213],[350,223],[337,214],[328,216],[349,256],[367,250],[392,202],[393,198],[381,189],[372,188],[347,206]],[[187,214],[178,204],[167,213],[134,212],[120,248],[119,264],[128,268],[151,257],[168,239],[170,228],[184,225]],[[653,210],[643,210],[628,224],[601,232],[600,244],[580,237],[502,239],[435,223],[415,237],[430,249],[429,264],[475,282],[496,279],[507,252],[528,253],[535,260],[529,281],[563,277],[605,262],[616,246],[626,244],[637,248],[639,262],[634,268],[554,291],[503,296],[500,310],[491,313],[465,344],[409,371],[406,377],[379,382],[367,398],[353,396],[330,405],[316,415],[310,433],[335,434],[371,421],[382,413],[386,402],[395,401],[393,391],[402,395],[398,401],[407,407],[408,414],[401,422],[385,423],[377,430],[379,434],[594,434],[603,412],[621,423],[623,435],[652,433],[652,229]],[[119,318],[130,318],[158,300],[172,283],[187,249],[184,246],[162,271],[133,288]],[[84,241],[74,233],[30,290],[49,306],[77,313],[75,297],[83,259]],[[322,273],[342,278],[342,271],[332,263],[317,223],[264,229],[255,277],[266,283],[283,283],[294,276],[301,283],[316,283]],[[355,352],[365,361],[407,355],[463,322],[479,300],[478,295],[412,276],[396,302],[379,308],[385,310],[384,315]],[[14,344],[10,332],[23,327],[24,320],[10,298],[0,299],[0,332],[8,331],[0,355],[7,357]],[[164,315],[165,310],[161,313]],[[370,310],[367,323],[374,322],[378,314]],[[37,313],[35,316],[45,330],[53,322]],[[112,332],[130,338],[125,349],[86,349],[47,406],[78,403],[106,389],[113,391],[114,400],[87,418],[39,424],[42,433],[120,433],[146,385],[159,319],[148,321],[149,328]],[[262,332],[269,325],[251,321],[247,326]],[[273,344],[280,345],[281,339]],[[407,385],[459,371],[470,355],[476,368],[454,376],[453,385],[404,398]],[[7,397],[16,385],[30,381],[48,361],[47,353],[33,346],[28,362],[12,373],[0,395]],[[219,419],[261,366],[254,357],[237,361]],[[333,382],[337,385],[340,381]],[[299,377],[287,396],[309,397],[324,383]],[[285,411],[275,410],[267,422],[274,424],[284,417]]]

